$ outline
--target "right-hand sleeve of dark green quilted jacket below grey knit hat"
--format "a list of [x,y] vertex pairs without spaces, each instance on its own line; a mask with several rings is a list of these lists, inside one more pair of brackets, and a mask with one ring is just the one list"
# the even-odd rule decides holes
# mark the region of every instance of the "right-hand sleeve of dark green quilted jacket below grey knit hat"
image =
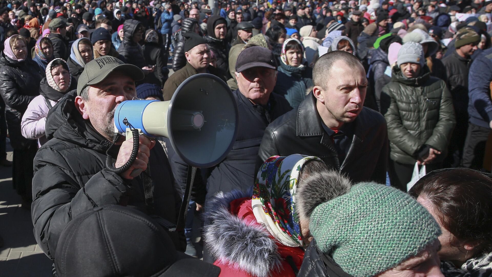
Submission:
[[431,137],[425,143],[439,151],[443,151],[448,147],[449,138],[451,138],[451,133],[456,125],[453,98],[444,81],[441,81],[441,83],[442,97],[439,107],[439,121],[432,131]]

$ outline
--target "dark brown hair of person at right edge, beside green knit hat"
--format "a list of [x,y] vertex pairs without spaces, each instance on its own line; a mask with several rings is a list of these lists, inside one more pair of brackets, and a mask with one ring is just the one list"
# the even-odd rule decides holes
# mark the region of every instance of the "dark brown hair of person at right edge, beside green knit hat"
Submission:
[[436,220],[457,239],[492,250],[492,176],[471,169],[445,169],[422,177],[409,191],[424,197]]

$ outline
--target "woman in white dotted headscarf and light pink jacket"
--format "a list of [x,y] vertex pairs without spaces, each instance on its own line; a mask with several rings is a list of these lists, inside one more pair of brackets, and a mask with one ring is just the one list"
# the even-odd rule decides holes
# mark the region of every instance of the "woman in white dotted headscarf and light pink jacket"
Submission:
[[39,94],[29,103],[21,121],[24,138],[38,139],[41,147],[46,141],[44,126],[48,111],[58,103],[65,93],[77,89],[77,80],[70,75],[63,59],[54,59],[46,67],[46,77],[41,80]]

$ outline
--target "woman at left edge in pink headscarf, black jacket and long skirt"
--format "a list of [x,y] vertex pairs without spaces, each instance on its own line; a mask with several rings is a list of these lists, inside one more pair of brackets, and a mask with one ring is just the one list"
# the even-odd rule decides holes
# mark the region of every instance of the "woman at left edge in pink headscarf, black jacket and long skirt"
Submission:
[[5,39],[0,54],[0,95],[5,102],[5,119],[10,144],[14,149],[12,183],[22,197],[22,206],[32,202],[32,162],[37,151],[35,141],[22,137],[21,118],[28,104],[39,95],[43,78],[39,67],[28,59],[27,42],[21,35]]

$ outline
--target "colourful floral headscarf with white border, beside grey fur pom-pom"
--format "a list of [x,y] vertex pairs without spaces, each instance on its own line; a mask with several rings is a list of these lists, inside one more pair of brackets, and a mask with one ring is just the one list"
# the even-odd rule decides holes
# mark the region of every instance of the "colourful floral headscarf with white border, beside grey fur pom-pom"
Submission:
[[272,156],[263,163],[253,187],[251,206],[258,223],[286,246],[305,246],[296,210],[299,173],[313,156]]

